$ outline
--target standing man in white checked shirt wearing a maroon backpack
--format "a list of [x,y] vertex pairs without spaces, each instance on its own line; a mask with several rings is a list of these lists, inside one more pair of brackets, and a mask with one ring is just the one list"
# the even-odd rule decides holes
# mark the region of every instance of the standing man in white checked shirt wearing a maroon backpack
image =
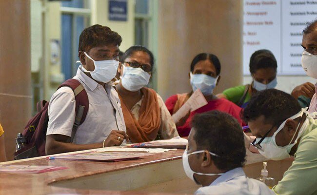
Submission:
[[89,109],[71,143],[75,95],[69,87],[57,90],[48,107],[47,155],[119,146],[124,139],[129,141],[120,100],[111,82],[119,65],[121,41],[118,33],[98,24],[80,34],[78,56],[81,65],[74,79],[84,87]]

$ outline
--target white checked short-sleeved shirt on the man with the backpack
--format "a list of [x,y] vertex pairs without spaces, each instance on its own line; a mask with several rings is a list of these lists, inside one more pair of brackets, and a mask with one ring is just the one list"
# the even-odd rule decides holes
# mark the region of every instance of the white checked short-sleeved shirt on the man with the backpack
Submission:
[[[73,143],[90,144],[106,139],[112,130],[126,131],[118,93],[112,82],[105,88],[80,69],[74,77],[87,92],[89,109],[85,121],[79,125]],[[71,88],[57,90],[48,107],[46,135],[59,134],[71,137],[75,122],[75,95]]]

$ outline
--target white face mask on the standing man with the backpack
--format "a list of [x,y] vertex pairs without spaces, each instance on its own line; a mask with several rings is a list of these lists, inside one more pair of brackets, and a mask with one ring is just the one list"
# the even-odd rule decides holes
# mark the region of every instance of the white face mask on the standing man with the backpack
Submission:
[[95,65],[94,71],[86,70],[82,65],[79,68],[86,73],[90,73],[91,77],[99,82],[109,82],[111,79],[115,78],[117,75],[117,70],[119,66],[119,61],[110,59],[110,60],[99,60],[96,61],[92,59],[86,52],[84,54],[87,58],[93,60]]

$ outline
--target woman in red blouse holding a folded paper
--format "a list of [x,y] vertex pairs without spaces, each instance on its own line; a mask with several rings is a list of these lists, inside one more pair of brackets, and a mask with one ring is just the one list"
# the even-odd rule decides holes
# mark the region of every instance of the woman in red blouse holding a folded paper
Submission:
[[175,114],[197,89],[202,92],[208,104],[188,113],[179,121],[175,121],[178,134],[182,137],[188,136],[191,130],[190,123],[192,117],[197,113],[204,113],[212,110],[228,113],[235,117],[240,125],[242,125],[242,120],[240,118],[241,108],[231,101],[224,98],[217,98],[213,94],[213,91],[220,80],[221,67],[217,56],[205,53],[198,54],[193,59],[190,69],[189,76],[193,91],[190,93],[173,95],[168,98],[165,102],[167,109],[171,115]]

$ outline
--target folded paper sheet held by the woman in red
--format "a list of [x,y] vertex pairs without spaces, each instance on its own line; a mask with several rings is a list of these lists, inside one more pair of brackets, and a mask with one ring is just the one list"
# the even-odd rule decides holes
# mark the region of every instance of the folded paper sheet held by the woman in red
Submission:
[[185,117],[189,112],[193,112],[198,108],[208,104],[206,98],[201,93],[199,89],[197,89],[191,97],[182,105],[179,110],[172,116],[174,122],[177,123],[182,117]]

